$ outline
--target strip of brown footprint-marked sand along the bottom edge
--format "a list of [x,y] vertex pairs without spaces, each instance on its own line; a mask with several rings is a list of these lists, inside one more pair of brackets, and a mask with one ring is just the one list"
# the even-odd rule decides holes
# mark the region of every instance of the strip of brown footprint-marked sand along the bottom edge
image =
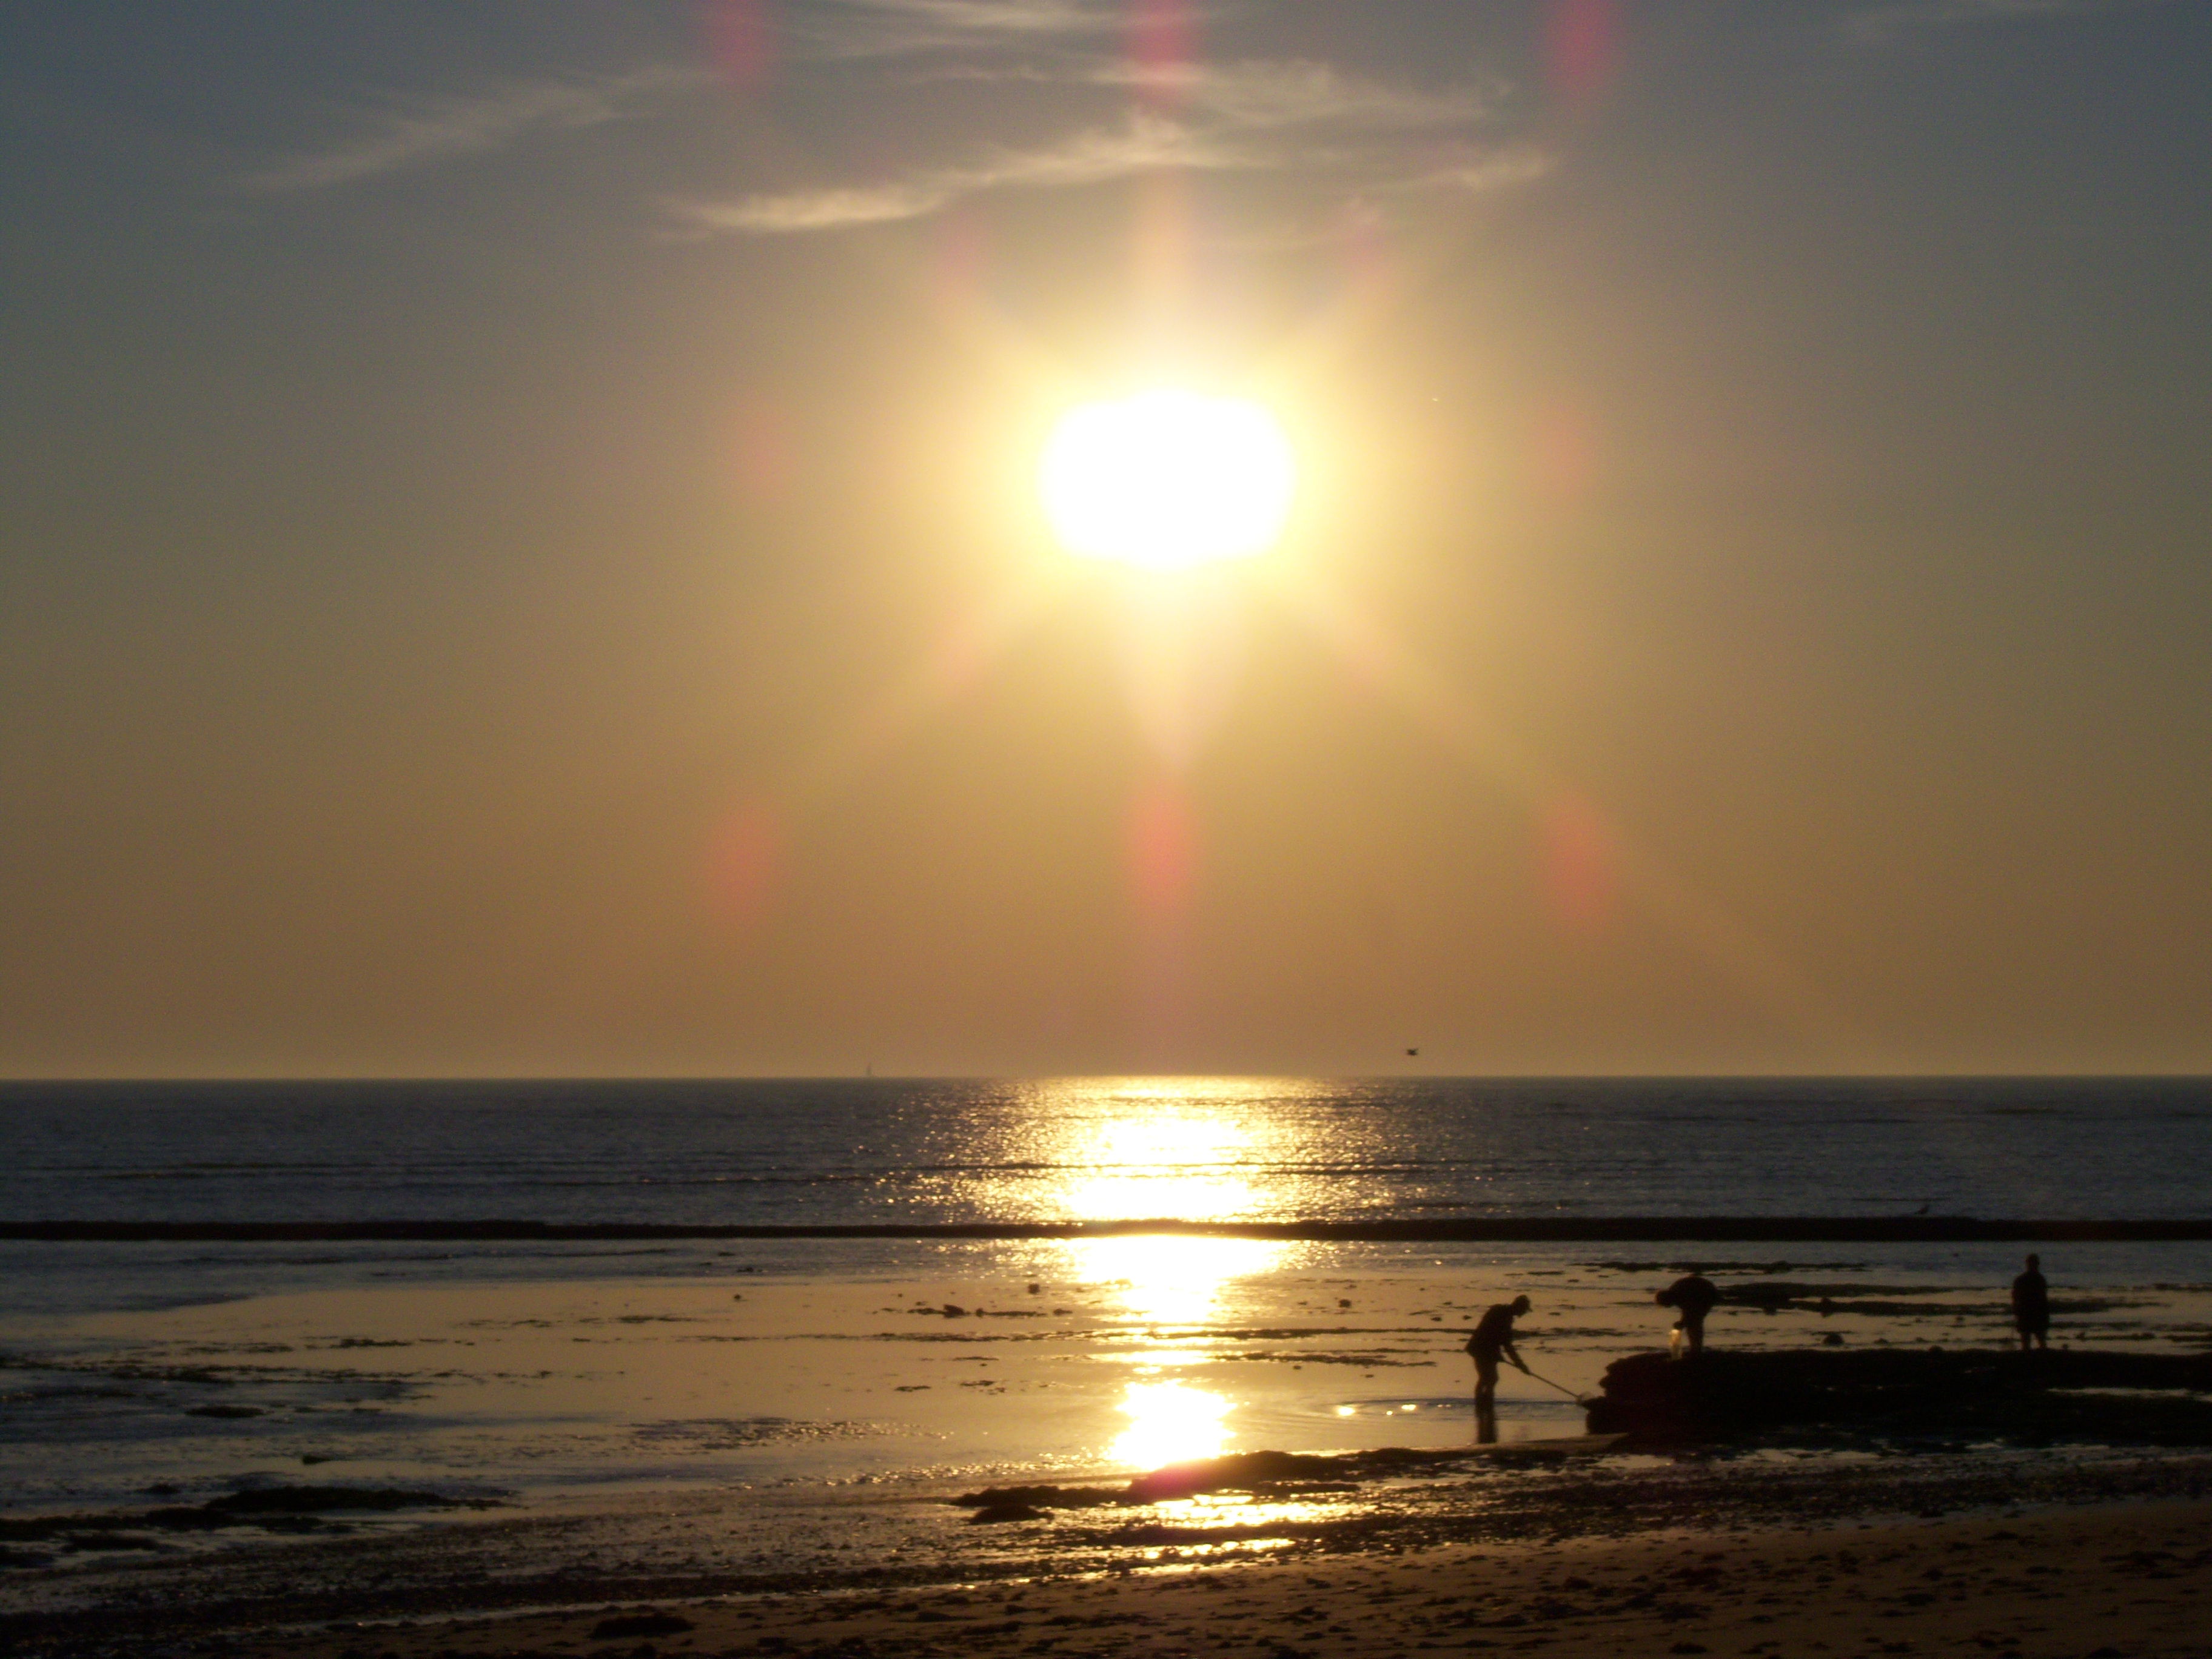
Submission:
[[[633,1595],[440,1615],[394,1597],[336,1621],[126,1615],[27,1655],[456,1659],[460,1655],[2203,1655],[2212,1502],[2104,1504],[1790,1528],[1668,1526],[933,1586]],[[276,1610],[272,1608],[272,1615]],[[199,1628],[192,1628],[199,1624]]]

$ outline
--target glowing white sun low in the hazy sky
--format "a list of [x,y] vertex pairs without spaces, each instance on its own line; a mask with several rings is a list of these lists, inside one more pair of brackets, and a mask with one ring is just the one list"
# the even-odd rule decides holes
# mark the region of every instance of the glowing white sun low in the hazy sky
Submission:
[[1068,409],[1037,469],[1062,546],[1146,571],[1265,553],[1296,482],[1261,405],[1172,389]]

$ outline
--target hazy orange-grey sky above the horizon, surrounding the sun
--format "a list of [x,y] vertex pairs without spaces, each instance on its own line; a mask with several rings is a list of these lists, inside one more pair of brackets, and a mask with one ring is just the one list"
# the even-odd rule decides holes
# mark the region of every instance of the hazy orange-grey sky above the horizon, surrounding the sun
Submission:
[[11,9],[0,1073],[2212,1066],[2205,15],[1471,11]]

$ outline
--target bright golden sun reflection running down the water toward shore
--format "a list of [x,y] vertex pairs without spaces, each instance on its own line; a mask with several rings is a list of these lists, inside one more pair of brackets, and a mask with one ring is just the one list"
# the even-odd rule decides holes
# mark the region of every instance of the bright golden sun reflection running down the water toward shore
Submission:
[[[1294,1088],[1294,1086],[1290,1086]],[[1040,1091],[1037,1161],[1055,1172],[1040,1206],[1064,1221],[1241,1221],[1296,1208],[1285,1086],[1201,1079],[1084,1079]],[[1283,1265],[1274,1239],[1128,1234],[1068,1239],[1068,1274],[1113,1294],[1146,1345],[1130,1356],[1110,1455],[1137,1469],[1219,1458],[1237,1440],[1237,1400],[1177,1376],[1212,1358],[1208,1325],[1239,1281]]]

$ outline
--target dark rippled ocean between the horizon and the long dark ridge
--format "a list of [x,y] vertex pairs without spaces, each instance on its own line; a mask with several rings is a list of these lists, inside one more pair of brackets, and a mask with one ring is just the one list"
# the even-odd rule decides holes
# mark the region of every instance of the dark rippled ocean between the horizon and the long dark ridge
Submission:
[[4,1221],[2201,1217],[2212,1082],[0,1086]]

